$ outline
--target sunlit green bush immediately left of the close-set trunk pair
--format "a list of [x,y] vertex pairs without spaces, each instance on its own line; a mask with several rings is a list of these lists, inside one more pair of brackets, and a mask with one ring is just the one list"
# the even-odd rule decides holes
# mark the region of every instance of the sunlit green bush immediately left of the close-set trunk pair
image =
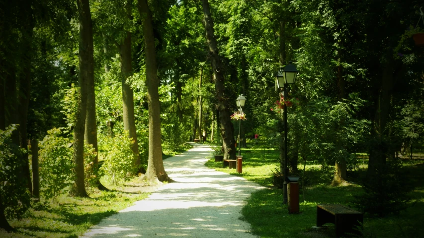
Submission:
[[72,140],[53,128],[40,142],[40,185],[43,196],[55,199],[74,182]]

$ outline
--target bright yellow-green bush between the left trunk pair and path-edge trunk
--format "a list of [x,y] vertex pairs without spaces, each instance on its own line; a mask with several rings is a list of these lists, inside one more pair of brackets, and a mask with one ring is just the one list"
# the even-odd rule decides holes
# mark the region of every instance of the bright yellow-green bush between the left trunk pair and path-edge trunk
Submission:
[[100,173],[112,184],[127,181],[137,171],[134,166],[134,155],[131,146],[134,141],[128,137],[128,131],[117,134],[113,138],[101,137],[100,146],[105,151]]

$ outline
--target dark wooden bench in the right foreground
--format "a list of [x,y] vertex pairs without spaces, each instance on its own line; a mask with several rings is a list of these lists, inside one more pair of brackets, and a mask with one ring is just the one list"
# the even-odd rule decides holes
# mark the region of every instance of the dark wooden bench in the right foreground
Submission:
[[326,223],[336,225],[336,237],[344,233],[355,233],[355,226],[362,226],[363,214],[341,204],[318,204],[317,227]]

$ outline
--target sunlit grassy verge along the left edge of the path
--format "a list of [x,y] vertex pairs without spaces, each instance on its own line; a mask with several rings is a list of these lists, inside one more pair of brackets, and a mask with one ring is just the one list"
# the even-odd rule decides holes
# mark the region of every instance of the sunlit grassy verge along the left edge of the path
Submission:
[[101,219],[117,213],[149,193],[97,191],[90,198],[62,196],[57,202],[41,201],[21,220],[10,221],[14,233],[0,231],[1,238],[78,238]]

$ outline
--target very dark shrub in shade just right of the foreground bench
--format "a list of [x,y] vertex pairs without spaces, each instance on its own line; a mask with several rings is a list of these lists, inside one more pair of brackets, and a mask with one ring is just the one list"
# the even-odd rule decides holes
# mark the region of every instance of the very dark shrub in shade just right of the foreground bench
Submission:
[[355,206],[371,215],[384,217],[399,214],[408,208],[411,200],[412,182],[403,170],[400,159],[389,160],[376,169],[375,178],[367,179],[364,192],[355,196]]

